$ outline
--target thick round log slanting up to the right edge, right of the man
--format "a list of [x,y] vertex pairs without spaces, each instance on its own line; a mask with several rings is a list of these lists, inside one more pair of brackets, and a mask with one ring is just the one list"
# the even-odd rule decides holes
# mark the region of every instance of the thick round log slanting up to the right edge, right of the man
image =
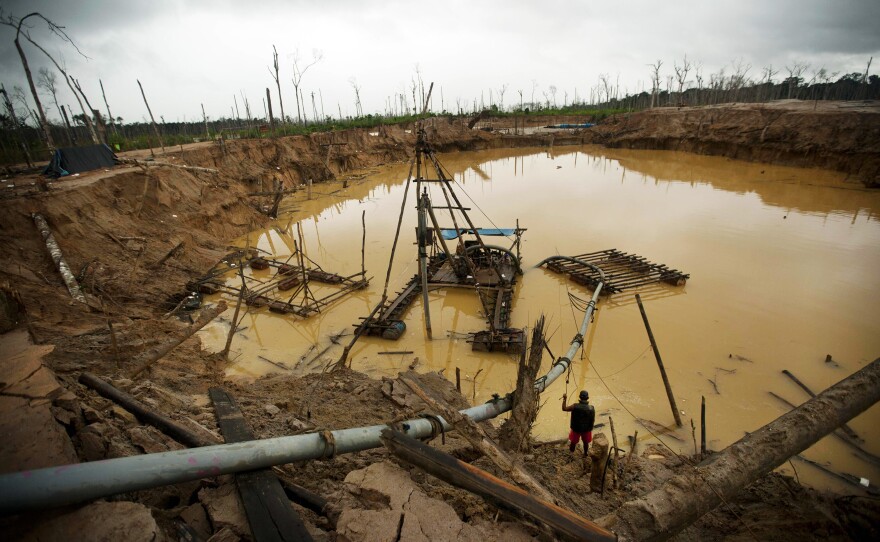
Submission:
[[880,401],[880,358],[597,522],[620,540],[666,540]]

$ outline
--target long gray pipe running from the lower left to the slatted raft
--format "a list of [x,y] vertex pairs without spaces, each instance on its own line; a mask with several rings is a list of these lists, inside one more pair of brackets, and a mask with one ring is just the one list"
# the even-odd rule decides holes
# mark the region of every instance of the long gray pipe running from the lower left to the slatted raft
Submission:
[[[583,344],[601,289],[600,282],[566,355],[535,382],[539,393],[568,369],[571,358]],[[507,412],[512,406],[508,395],[461,413],[479,422]],[[452,429],[442,421],[447,430]],[[332,431],[330,442],[323,433],[309,433],[5,474],[0,476],[0,514],[63,506],[209,476],[379,448],[381,432],[386,427],[374,425]],[[423,418],[404,422],[401,427],[414,438],[428,437],[433,430],[431,422]]]

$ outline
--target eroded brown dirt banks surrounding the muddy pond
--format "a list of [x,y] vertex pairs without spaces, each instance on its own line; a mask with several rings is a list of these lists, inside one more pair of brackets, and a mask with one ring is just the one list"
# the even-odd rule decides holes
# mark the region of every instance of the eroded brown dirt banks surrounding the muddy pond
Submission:
[[[876,181],[880,167],[876,107],[819,104],[813,109],[813,104],[808,105],[663,109],[615,117],[580,132],[527,136],[468,130],[462,121],[446,119],[431,120],[427,130],[443,152],[593,142],[831,167],[850,172],[854,178]],[[411,415],[415,405],[410,399],[394,397],[383,391],[383,383],[348,371],[304,378],[273,375],[253,383],[229,381],[224,377],[224,360],[203,351],[197,340],[185,342],[138,379],[127,378],[127,373],[139,354],[186,325],[163,315],[187,281],[205,273],[228,252],[228,239],[267,220],[260,211],[267,198],[250,194],[271,190],[278,182],[288,189],[302,187],[309,179],[356,183],[364,168],[408,159],[414,141],[412,127],[392,126],[311,137],[231,140],[222,146],[199,143],[169,148],[156,161],[212,168],[217,173],[118,166],[55,182],[48,192],[36,192],[27,177],[16,179],[21,190],[11,190],[10,195],[17,196],[0,200],[0,289],[4,321],[19,329],[0,335],[0,351],[7,368],[10,363],[22,365],[3,373],[0,395],[5,403],[0,406],[21,416],[14,418],[18,428],[39,430],[18,431],[15,438],[20,442],[0,449],[2,471],[60,464],[74,453],[81,461],[91,461],[180,447],[78,384],[76,379],[84,370],[112,380],[146,404],[208,435],[216,434],[217,424],[207,389],[218,385],[238,399],[261,438],[386,423]],[[141,151],[124,157],[148,156]],[[72,301],[67,294],[33,225],[34,212],[46,217],[83,286],[88,305]],[[36,346],[25,344],[24,330]],[[51,375],[56,380],[47,380]],[[446,400],[462,400],[442,377],[422,379]],[[454,435],[448,436],[444,449],[469,460],[476,457]],[[12,455],[5,455],[9,450]],[[19,454],[22,450],[27,453]],[[390,518],[389,525],[396,528],[405,525],[406,514],[414,510],[411,501],[400,507],[392,504],[396,502],[393,495],[383,491],[393,488],[367,487],[371,478],[363,471],[387,460],[384,451],[375,450],[286,467],[283,476],[333,503],[328,518],[299,509],[319,538],[363,539],[360,519]],[[588,494],[584,467],[571,461],[564,448],[538,447],[522,460],[566,507],[586,517],[608,513],[653,489],[676,469],[685,468],[679,458],[652,450],[635,461],[633,483],[626,490],[600,497]],[[475,462],[492,470],[485,459]],[[443,517],[454,523],[454,517],[468,525],[459,525],[455,531],[461,537],[545,536],[528,521],[504,513],[499,516],[495,507],[481,499],[416,470],[401,470],[393,462],[382,469],[387,476],[399,476],[402,483],[412,484],[410,495],[418,490],[426,499],[439,499],[447,506],[419,501],[424,506],[418,510],[430,509],[433,515],[412,512],[412,521]],[[116,538],[161,539],[176,538],[180,525],[185,524],[202,539],[212,535],[247,539],[232,488],[228,477],[206,479],[122,495],[73,512],[7,519],[2,528],[31,538],[53,538],[65,529],[78,529],[97,538],[112,527]],[[377,511],[382,513],[368,513]],[[107,518],[113,519],[108,522]],[[751,529],[768,538],[876,538],[877,518],[872,501],[835,498],[771,476],[749,488],[731,508],[704,518],[684,537],[743,538]]]

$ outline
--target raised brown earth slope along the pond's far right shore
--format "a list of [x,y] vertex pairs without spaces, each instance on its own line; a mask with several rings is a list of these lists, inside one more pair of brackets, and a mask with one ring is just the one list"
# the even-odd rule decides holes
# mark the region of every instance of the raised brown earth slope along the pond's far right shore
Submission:
[[611,117],[585,133],[607,147],[820,167],[880,184],[880,102],[656,108]]

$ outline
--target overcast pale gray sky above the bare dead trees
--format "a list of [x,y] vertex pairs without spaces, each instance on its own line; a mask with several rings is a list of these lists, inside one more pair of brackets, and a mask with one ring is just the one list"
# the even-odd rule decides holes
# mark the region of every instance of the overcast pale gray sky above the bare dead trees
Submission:
[[[35,19],[31,36],[80,80],[93,107],[106,114],[98,79],[104,83],[114,116],[146,119],[137,87],[140,79],[156,115],[166,121],[231,115],[233,95],[242,115],[242,93],[253,113],[263,116],[266,87],[276,100],[267,67],[272,45],[280,56],[285,113],[295,116],[291,63],[313,51],[323,58],[303,77],[308,116],[315,92],[327,115],[354,113],[350,81],[360,87],[365,113],[381,113],[388,97],[407,93],[418,66],[427,86],[435,83],[433,109],[447,110],[459,100],[488,104],[489,89],[507,85],[504,104],[536,100],[550,86],[556,101],[589,96],[601,74],[619,81],[623,91],[650,88],[648,64],[663,61],[661,77],[685,55],[711,73],[740,63],[778,69],[806,62],[809,79],[821,67],[829,72],[863,72],[868,59],[880,65],[878,0],[0,0],[4,15],[39,11],[66,27],[88,55],[46,31]],[[13,44],[15,31],[0,27],[0,82],[11,91],[27,90]],[[23,41],[36,73],[50,66]],[[693,80],[693,75],[689,76]],[[318,91],[320,90],[320,94]],[[567,98],[566,98],[567,93]],[[442,94],[442,96],[441,96]],[[29,93],[28,93],[29,96]],[[61,105],[77,107],[62,85]],[[51,118],[58,112],[43,100]],[[465,104],[467,104],[465,106]],[[275,104],[275,114],[279,116]]]

